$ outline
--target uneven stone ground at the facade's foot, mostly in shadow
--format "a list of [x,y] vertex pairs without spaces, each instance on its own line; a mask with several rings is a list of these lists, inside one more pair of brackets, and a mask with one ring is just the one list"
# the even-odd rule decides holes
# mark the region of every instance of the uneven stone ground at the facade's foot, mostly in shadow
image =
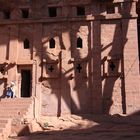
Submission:
[[52,117],[47,118],[47,128],[43,122],[33,133],[8,140],[140,140],[140,116]]

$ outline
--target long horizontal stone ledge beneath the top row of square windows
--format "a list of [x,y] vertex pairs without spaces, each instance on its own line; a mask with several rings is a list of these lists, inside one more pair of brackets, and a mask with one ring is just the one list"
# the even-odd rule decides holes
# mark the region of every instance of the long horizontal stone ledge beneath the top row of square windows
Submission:
[[10,24],[31,24],[31,23],[58,23],[58,22],[76,22],[76,21],[95,21],[95,20],[107,20],[107,19],[133,19],[137,18],[137,14],[121,15],[121,14],[109,14],[109,15],[95,15],[84,17],[57,17],[57,18],[40,18],[40,19],[19,19],[19,20],[0,20],[0,25]]

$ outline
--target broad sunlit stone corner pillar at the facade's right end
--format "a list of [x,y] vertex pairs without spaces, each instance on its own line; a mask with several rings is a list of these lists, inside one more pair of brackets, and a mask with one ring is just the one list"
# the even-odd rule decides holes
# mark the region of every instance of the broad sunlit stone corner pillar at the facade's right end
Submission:
[[123,19],[122,33],[126,113],[130,114],[140,110],[137,20]]

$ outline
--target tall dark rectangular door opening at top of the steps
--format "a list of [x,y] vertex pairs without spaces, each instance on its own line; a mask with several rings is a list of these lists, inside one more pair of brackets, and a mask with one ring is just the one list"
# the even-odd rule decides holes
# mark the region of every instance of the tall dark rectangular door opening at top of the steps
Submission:
[[31,71],[21,70],[21,97],[30,97],[31,92]]

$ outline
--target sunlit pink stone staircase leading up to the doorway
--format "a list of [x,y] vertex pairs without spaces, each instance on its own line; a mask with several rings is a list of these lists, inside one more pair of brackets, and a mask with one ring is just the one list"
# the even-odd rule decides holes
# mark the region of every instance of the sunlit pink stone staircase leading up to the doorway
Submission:
[[12,126],[33,118],[33,98],[0,100],[0,139],[11,134]]

